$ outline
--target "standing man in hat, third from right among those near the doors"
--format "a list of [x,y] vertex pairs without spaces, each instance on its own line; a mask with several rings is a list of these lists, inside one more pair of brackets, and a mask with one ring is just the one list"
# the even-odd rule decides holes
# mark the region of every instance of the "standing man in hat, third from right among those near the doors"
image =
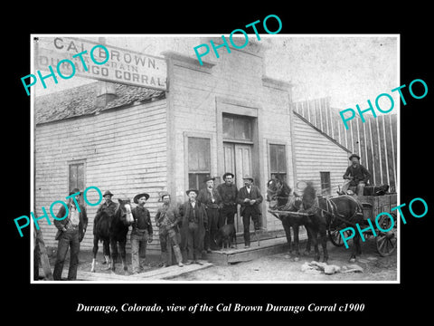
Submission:
[[204,250],[208,254],[211,250],[217,250],[215,243],[215,235],[217,234],[217,225],[220,219],[220,209],[222,208],[222,197],[214,187],[215,177],[206,177],[206,187],[199,191],[197,201],[202,203],[206,209],[206,215],[208,216],[209,231],[205,233]]

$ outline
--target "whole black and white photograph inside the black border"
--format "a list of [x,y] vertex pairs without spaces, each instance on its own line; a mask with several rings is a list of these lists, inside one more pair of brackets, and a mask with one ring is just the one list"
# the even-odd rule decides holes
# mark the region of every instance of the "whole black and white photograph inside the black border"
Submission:
[[273,20],[31,35],[32,283],[400,283],[399,112],[426,82],[402,97],[399,34]]

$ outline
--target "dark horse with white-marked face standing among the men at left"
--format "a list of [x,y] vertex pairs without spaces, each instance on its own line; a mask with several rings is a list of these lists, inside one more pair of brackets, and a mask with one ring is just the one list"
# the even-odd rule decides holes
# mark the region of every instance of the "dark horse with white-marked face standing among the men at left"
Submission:
[[[95,216],[93,225],[93,260],[91,272],[95,272],[95,260],[98,253],[98,243],[103,243],[103,254],[106,261],[110,262],[109,268],[115,272],[115,263],[118,260],[118,245],[120,251],[120,258],[124,271],[127,271],[127,251],[125,246],[127,244],[128,224],[126,218],[131,215],[130,200],[118,199],[119,205],[117,206],[114,215],[109,216],[105,211]],[[110,254],[111,248],[111,254]]]

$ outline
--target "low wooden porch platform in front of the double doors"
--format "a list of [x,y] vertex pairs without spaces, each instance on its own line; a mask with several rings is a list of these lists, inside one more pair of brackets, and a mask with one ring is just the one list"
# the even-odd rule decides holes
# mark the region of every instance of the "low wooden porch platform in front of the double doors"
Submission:
[[[238,243],[238,241],[237,241]],[[259,245],[258,245],[259,244]],[[238,248],[212,251],[212,254],[203,254],[203,259],[212,264],[236,264],[248,262],[269,254],[280,254],[288,250],[286,237],[275,237],[260,240],[250,237],[250,248],[244,248],[244,244],[238,244]]]

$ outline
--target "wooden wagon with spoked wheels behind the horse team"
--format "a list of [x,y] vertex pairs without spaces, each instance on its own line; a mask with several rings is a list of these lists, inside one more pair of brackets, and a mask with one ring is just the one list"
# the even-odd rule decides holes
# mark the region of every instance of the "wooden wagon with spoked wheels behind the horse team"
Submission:
[[[391,255],[397,245],[397,228],[396,228],[396,214],[391,213],[392,207],[397,204],[397,194],[388,194],[383,196],[359,196],[358,199],[363,205],[363,220],[367,221],[369,218],[375,227],[375,242],[377,246],[377,251],[383,257]],[[375,217],[378,216],[382,212],[390,213],[393,216],[394,226],[388,232],[382,232],[382,230],[388,230],[392,224],[391,219],[382,215],[378,219],[378,225],[381,226],[382,230],[379,230],[374,223]],[[332,223],[328,225],[328,236],[330,241],[335,246],[344,245],[344,241],[342,239],[340,231],[347,227],[347,225],[340,225],[340,227],[333,227],[333,217]],[[360,225],[363,228],[363,225]],[[368,226],[366,222],[366,226]],[[345,231],[345,235],[350,235],[351,231]],[[373,232],[371,230],[367,230],[363,232],[364,237],[373,236]]]

